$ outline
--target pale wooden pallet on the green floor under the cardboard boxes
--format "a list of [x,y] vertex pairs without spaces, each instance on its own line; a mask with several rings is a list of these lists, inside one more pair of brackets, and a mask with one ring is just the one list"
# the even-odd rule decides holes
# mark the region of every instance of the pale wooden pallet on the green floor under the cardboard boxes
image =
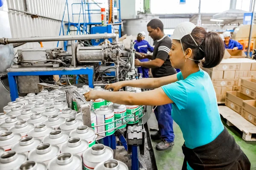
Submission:
[[227,106],[218,106],[220,114],[227,119],[228,126],[236,126],[243,132],[245,141],[256,141],[256,126]]

